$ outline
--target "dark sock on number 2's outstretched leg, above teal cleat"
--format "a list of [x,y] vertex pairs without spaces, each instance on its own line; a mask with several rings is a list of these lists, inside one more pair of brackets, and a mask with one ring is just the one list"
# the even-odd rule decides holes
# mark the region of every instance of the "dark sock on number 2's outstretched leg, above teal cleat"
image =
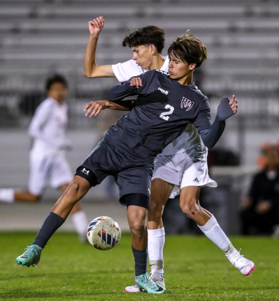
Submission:
[[35,240],[32,244],[36,244],[44,248],[52,234],[65,222],[61,216],[56,213],[50,212],[49,216],[45,219],[42,227],[40,228]]

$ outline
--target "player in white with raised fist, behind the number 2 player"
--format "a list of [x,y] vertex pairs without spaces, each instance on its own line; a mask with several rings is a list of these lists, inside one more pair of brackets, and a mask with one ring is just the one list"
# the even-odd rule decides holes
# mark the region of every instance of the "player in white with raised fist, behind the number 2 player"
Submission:
[[[102,16],[88,24],[90,38],[84,57],[84,75],[87,77],[116,77],[119,82],[128,80],[148,70],[159,69],[171,73],[178,63],[176,60],[170,64],[169,56],[163,57],[165,31],[156,26],[145,26],[126,36],[122,45],[132,48],[133,58],[124,63],[115,65],[97,66],[96,49],[97,41],[104,26]],[[183,45],[185,52],[191,47],[199,45],[204,52],[198,53],[195,58],[195,68],[199,67],[207,58],[207,51],[201,41],[195,36],[185,34],[176,39],[174,51]],[[195,47],[195,46],[194,46]],[[189,62],[188,62],[189,63]],[[195,84],[194,84],[195,85]],[[195,89],[200,92],[195,86]],[[185,100],[187,101],[187,100]],[[94,104],[94,106],[98,104]],[[185,131],[172,143],[166,146],[154,162],[154,172],[151,182],[151,198],[148,210],[148,256],[151,265],[151,278],[158,284],[165,286],[163,270],[163,246],[165,231],[162,214],[167,200],[180,193],[180,207],[182,211],[193,219],[201,231],[212,240],[230,262],[239,269],[243,275],[249,275],[254,268],[254,263],[244,258],[235,249],[227,235],[220,228],[215,217],[202,208],[199,204],[199,193],[203,186],[216,187],[217,183],[208,176],[207,166],[208,149],[204,146],[198,130],[188,124]],[[237,263],[236,263],[237,262]],[[139,292],[135,287],[126,287],[127,292]]]

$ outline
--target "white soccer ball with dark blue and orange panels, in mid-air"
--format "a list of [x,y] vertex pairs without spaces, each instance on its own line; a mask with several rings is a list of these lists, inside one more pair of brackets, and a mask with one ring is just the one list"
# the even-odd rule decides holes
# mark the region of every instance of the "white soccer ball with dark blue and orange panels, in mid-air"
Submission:
[[112,249],[120,238],[121,229],[118,223],[108,216],[93,219],[87,228],[87,239],[98,250]]

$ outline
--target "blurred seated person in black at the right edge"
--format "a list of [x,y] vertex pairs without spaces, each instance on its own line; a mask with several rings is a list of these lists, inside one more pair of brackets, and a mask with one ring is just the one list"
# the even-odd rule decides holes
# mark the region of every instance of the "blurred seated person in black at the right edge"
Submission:
[[279,148],[263,149],[265,167],[252,180],[241,212],[243,234],[272,234],[279,225]]

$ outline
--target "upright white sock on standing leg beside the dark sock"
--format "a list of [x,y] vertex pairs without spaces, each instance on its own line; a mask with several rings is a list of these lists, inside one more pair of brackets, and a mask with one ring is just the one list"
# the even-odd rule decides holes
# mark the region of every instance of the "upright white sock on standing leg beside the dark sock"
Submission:
[[[163,247],[165,244],[165,229],[147,229],[148,234],[148,258],[152,273],[163,274]],[[152,276],[152,275],[151,275]]]

